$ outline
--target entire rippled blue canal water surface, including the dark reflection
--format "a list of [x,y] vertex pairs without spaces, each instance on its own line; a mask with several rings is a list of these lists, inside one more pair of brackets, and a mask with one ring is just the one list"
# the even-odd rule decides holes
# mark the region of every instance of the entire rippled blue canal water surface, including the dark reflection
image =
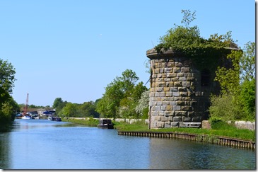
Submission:
[[256,151],[49,120],[0,133],[0,169],[256,169]]

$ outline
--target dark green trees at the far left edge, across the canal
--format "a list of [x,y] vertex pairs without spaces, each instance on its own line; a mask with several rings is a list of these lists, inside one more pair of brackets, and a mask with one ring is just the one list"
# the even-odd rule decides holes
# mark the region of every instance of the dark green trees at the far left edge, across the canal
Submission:
[[16,71],[11,63],[0,59],[0,132],[8,130],[19,106],[11,97]]

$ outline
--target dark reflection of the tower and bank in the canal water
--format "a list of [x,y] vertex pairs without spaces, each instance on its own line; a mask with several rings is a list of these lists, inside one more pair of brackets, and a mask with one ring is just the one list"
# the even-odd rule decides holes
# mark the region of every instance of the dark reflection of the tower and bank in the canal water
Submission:
[[255,169],[254,151],[215,144],[151,138],[151,169]]

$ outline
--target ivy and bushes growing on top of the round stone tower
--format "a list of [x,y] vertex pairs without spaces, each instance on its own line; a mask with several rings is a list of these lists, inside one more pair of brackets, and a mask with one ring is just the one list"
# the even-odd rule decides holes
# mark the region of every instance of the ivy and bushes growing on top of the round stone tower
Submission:
[[209,39],[202,38],[197,25],[189,27],[189,24],[195,19],[195,11],[182,10],[184,25],[174,24],[173,28],[160,37],[160,43],[155,49],[162,53],[171,49],[178,55],[189,57],[200,71],[209,66],[211,71],[215,71],[219,59],[229,50],[225,47],[238,47],[231,38],[229,31],[225,35],[214,34]]

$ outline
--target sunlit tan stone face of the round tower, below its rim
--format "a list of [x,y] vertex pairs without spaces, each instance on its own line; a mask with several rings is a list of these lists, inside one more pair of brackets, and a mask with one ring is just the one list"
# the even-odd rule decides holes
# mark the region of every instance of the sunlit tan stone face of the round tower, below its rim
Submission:
[[181,121],[200,121],[194,115],[194,69],[181,58],[151,60],[151,128],[177,127]]

